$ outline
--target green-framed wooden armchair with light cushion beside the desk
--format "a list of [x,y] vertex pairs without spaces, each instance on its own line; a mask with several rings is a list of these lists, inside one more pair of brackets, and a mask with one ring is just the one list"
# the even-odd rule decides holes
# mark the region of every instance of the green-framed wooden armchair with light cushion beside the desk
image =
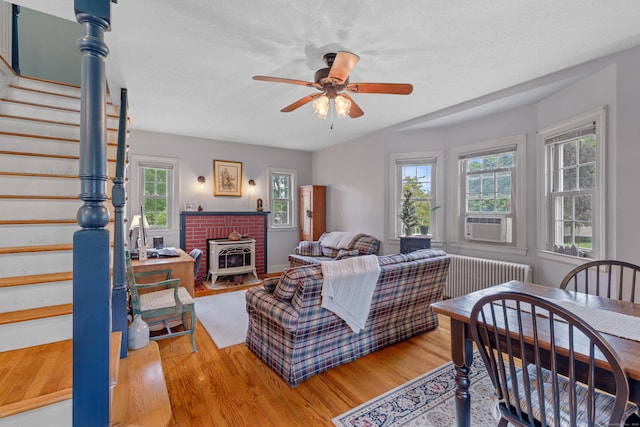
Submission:
[[[171,270],[154,270],[135,273],[129,252],[126,254],[127,281],[131,291],[133,315],[140,314],[150,330],[162,325],[163,334],[154,334],[149,338],[160,340],[191,335],[191,347],[196,352],[195,330],[196,310],[189,292],[180,286],[180,279],[171,279]],[[166,280],[153,283],[136,283],[137,277],[165,274]]]

